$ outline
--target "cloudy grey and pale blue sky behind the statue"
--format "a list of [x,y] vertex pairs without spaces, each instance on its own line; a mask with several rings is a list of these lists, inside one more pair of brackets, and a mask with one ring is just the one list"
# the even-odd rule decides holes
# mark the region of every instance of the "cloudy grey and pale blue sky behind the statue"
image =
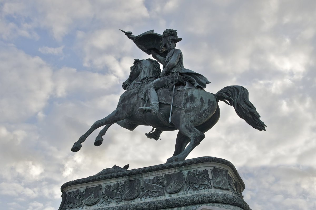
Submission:
[[119,31],[175,29],[184,67],[216,93],[241,85],[267,125],[258,131],[219,102],[221,117],[187,157],[227,159],[253,210],[316,209],[316,2],[313,0],[0,0],[0,206],[53,210],[65,182],[104,168],[163,164],[177,131],[148,139],[110,114],[134,58],[151,57]]

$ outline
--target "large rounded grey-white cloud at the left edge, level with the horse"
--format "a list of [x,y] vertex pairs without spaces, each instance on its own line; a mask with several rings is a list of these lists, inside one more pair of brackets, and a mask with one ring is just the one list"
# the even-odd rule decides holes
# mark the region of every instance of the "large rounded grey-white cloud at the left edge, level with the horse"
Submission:
[[52,91],[51,67],[40,57],[3,44],[0,62],[1,121],[24,121],[41,111]]

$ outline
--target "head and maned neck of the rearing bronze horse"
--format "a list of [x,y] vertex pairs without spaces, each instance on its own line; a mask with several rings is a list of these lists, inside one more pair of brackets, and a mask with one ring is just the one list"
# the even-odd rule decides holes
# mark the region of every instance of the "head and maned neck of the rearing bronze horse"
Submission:
[[135,59],[131,66],[131,73],[122,87],[127,90],[132,84],[133,87],[146,83],[148,80],[157,79],[160,76],[160,64],[153,59],[139,60]]

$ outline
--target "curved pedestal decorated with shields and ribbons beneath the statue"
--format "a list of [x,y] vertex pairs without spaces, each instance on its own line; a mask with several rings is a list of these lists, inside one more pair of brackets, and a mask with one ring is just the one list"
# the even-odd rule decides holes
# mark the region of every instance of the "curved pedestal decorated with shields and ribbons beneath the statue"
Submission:
[[234,165],[201,157],[125,170],[118,166],[65,183],[59,210],[251,210]]

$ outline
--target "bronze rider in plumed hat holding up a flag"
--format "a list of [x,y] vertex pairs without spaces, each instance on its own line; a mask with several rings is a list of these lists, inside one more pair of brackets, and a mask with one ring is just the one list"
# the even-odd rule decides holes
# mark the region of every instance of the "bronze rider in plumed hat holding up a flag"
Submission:
[[[124,32],[124,31],[123,31]],[[124,32],[125,33],[125,32]],[[143,113],[151,112],[154,115],[157,113],[159,109],[159,102],[158,102],[158,96],[156,93],[156,90],[162,88],[162,87],[173,87],[173,93],[174,93],[174,87],[175,85],[183,86],[183,88],[205,88],[206,84],[209,84],[210,81],[208,81],[203,75],[197,74],[189,69],[184,69],[183,67],[183,55],[182,52],[179,49],[175,49],[176,43],[181,41],[182,38],[178,38],[177,30],[173,29],[166,29],[162,33],[162,41],[161,48],[156,49],[155,45],[150,46],[149,40],[153,39],[153,35],[158,35],[156,33],[153,33],[152,31],[145,32],[137,37],[132,36],[131,32],[125,33],[130,39],[132,39],[137,46],[142,46],[140,49],[142,49],[145,52],[150,52],[151,55],[163,65],[163,70],[160,74],[160,78],[156,79],[155,81],[152,81],[146,90],[146,95],[150,101],[150,106],[143,106],[139,107],[137,110]],[[150,35],[149,38],[147,38]],[[159,39],[155,38],[154,40]],[[144,50],[144,47],[147,45],[147,48],[151,51]],[[157,53],[157,52],[158,53]],[[191,86],[191,87],[190,87]],[[169,123],[170,123],[170,117],[171,117],[171,110],[170,110],[170,116],[169,116]],[[156,129],[155,132],[151,131],[146,136],[148,138],[153,138],[155,140],[158,140],[161,134],[161,130]]]

